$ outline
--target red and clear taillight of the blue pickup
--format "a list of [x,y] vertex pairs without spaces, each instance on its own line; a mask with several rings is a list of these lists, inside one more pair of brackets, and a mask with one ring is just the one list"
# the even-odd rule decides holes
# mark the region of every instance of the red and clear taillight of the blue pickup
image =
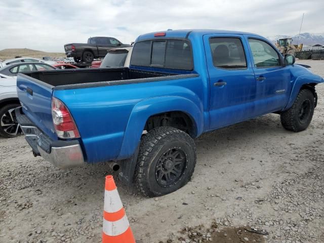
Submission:
[[52,118],[59,138],[79,138],[74,120],[67,107],[57,98],[52,98]]

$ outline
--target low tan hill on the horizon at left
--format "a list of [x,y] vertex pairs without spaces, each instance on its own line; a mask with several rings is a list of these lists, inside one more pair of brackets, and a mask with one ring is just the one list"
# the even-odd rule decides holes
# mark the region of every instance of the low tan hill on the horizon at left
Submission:
[[0,51],[0,59],[2,60],[12,59],[15,58],[16,56],[34,57],[40,59],[42,59],[42,57],[57,57],[57,58],[66,57],[65,53],[42,52],[42,51],[36,51],[27,48],[4,49]]

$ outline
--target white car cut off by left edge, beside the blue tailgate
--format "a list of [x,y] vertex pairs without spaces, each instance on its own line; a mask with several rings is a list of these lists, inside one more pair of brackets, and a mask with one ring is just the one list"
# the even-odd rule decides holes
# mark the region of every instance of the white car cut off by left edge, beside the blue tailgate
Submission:
[[22,134],[15,114],[15,108],[20,106],[16,79],[0,73],[0,136],[5,138]]

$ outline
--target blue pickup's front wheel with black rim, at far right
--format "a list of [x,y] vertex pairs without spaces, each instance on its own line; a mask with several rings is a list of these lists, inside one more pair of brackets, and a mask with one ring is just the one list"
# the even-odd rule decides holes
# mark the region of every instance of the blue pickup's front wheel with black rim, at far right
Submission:
[[301,90],[291,108],[280,114],[282,126],[290,131],[305,130],[312,120],[315,108],[314,95],[310,90]]

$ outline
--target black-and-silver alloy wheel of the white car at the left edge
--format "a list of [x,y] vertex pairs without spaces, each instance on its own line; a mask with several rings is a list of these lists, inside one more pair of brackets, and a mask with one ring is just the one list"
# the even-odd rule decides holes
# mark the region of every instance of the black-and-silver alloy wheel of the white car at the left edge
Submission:
[[18,104],[5,105],[0,109],[0,136],[14,138],[22,135],[22,130],[16,120],[15,108]]

